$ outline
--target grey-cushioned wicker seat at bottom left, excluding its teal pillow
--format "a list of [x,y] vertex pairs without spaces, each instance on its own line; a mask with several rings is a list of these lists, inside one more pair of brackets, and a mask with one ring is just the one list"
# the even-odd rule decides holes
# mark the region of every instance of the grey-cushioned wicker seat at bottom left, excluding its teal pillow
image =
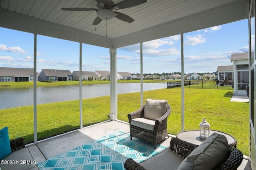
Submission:
[[12,152],[1,159],[1,170],[39,170],[28,148],[25,147],[24,138],[10,141]]

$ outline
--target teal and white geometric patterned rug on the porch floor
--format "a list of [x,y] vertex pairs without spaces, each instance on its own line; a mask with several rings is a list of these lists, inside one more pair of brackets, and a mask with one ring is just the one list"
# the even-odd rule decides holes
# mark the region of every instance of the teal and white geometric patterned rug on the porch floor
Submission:
[[123,170],[126,159],[142,162],[165,149],[116,131],[37,165],[40,170]]

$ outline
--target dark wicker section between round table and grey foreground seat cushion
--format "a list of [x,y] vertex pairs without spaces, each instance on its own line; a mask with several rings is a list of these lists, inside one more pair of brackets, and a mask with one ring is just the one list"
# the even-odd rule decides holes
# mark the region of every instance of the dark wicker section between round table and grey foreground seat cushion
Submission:
[[198,145],[182,141],[178,138],[172,138],[170,142],[170,149],[182,158],[186,158]]

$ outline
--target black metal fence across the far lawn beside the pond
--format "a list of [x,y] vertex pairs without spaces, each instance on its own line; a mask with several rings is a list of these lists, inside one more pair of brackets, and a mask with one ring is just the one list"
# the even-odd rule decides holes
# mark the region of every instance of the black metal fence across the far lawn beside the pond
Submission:
[[[231,80],[185,80],[185,88],[230,89],[234,88]],[[181,87],[181,81],[167,82],[167,88]]]

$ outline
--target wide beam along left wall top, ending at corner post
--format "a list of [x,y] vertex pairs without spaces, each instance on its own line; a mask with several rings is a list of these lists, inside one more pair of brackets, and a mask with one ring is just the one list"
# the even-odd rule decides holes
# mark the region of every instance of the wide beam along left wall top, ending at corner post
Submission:
[[0,8],[0,27],[112,48],[113,39]]

